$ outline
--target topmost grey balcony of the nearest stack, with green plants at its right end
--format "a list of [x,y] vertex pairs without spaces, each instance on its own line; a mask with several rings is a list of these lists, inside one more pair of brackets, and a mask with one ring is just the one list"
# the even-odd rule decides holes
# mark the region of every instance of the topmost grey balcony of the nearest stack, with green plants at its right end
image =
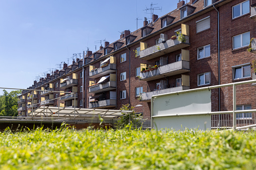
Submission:
[[178,41],[178,39],[175,39],[175,40],[170,39],[170,40],[167,40],[165,43],[160,43],[155,46],[146,48],[145,50],[140,51],[140,58],[143,60],[150,60],[150,59],[162,56],[164,54],[188,47],[190,46],[189,36],[185,36],[185,38],[186,38],[185,43]]

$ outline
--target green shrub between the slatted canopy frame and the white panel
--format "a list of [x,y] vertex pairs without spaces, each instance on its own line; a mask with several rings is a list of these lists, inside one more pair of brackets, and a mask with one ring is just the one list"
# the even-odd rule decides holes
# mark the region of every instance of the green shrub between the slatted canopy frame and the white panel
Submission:
[[122,129],[127,125],[132,125],[132,127],[134,128],[139,128],[139,125],[141,124],[142,116],[134,112],[133,106],[130,107],[130,104],[125,104],[125,105],[123,104],[120,110],[132,110],[133,112],[130,114],[126,114],[125,116],[119,117],[117,121],[117,128]]

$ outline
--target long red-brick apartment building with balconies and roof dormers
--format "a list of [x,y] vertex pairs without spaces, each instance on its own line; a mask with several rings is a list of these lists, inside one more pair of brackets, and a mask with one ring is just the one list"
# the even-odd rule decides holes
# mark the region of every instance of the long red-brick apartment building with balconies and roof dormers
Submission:
[[[34,92],[41,105],[119,109],[129,103],[136,112],[150,116],[152,95],[254,79],[255,54],[253,48],[247,49],[256,35],[255,3],[181,1],[176,10],[162,17],[153,15],[150,23],[145,19],[142,28],[125,30],[119,40],[105,42],[98,51],[88,51],[83,60],[34,82],[19,96],[19,113],[28,111],[31,89],[63,91],[63,98],[51,103],[43,101],[56,98],[57,93]],[[237,89],[236,109],[255,108],[255,87]],[[77,92],[77,103],[64,93],[69,91]],[[211,98],[212,111],[232,109],[231,88],[214,89]],[[247,119],[252,114],[237,117]]]

